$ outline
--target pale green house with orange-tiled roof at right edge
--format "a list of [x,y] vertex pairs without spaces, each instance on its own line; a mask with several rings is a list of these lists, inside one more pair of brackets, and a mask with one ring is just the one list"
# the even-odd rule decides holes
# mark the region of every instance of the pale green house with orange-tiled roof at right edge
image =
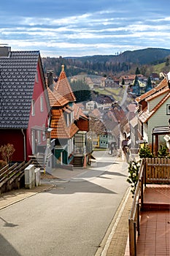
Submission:
[[[151,146],[152,130],[155,127],[166,127],[170,118],[170,89],[166,78],[141,97],[136,98],[139,105],[139,133],[141,139]],[[165,142],[160,138],[160,142]]]

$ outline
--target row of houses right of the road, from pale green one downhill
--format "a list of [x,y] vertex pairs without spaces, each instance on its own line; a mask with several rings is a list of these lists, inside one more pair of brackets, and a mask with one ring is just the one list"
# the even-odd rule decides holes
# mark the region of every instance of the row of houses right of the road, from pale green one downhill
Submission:
[[134,102],[124,105],[124,108],[115,102],[109,106],[104,101],[103,105],[96,105],[95,101],[87,102],[86,110],[104,125],[94,144],[101,148],[111,145],[121,148],[121,142],[128,138],[129,148],[137,151],[140,143],[146,142],[155,154],[160,144],[169,147],[169,75],[170,72],[158,86],[136,97]]

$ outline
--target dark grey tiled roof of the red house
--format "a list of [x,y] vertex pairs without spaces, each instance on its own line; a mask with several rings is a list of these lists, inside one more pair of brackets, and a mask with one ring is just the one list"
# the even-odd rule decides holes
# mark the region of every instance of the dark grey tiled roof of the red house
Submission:
[[38,61],[39,51],[0,57],[0,128],[28,127]]

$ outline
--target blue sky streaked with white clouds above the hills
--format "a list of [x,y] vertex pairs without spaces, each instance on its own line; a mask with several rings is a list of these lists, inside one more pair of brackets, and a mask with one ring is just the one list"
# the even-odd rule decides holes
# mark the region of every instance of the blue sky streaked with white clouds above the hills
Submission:
[[0,4],[0,44],[42,57],[170,49],[167,0],[9,0]]

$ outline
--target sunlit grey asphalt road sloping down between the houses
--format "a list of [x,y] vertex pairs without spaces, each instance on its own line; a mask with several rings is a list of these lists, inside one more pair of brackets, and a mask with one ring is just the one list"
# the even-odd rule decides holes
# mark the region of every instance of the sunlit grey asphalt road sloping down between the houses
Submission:
[[0,211],[2,256],[93,256],[128,183],[127,165],[104,153],[69,181]]

